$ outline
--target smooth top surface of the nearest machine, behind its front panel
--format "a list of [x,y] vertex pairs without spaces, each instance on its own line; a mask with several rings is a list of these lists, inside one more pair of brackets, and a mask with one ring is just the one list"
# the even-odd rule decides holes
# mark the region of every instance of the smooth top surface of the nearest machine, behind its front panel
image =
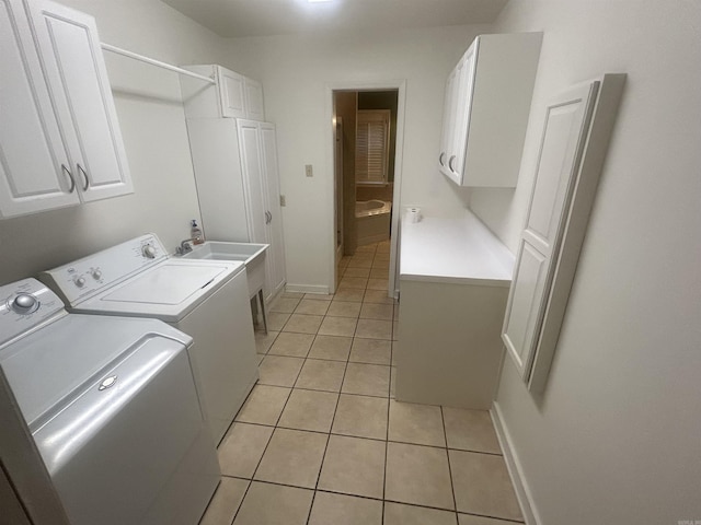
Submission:
[[159,337],[179,348],[192,343],[156,319],[67,315],[2,349],[0,369],[34,432],[70,404],[81,385]]

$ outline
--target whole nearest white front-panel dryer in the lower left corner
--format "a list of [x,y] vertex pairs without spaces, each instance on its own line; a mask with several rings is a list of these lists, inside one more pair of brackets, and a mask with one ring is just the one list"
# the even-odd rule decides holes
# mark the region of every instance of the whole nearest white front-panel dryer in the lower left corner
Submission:
[[68,314],[35,279],[0,287],[0,458],[21,502],[12,520],[195,525],[220,471],[192,343],[156,319]]

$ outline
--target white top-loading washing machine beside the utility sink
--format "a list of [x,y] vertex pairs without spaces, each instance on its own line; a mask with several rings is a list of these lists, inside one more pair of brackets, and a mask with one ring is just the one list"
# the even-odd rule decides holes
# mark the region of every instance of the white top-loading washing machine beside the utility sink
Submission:
[[243,262],[171,258],[147,234],[39,278],[70,312],[153,317],[191,335],[191,363],[219,443],[258,377]]

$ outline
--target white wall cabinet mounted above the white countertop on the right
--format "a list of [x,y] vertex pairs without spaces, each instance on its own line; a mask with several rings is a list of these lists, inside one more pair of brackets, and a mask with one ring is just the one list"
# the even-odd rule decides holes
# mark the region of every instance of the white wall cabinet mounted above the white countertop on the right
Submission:
[[541,42],[478,36],[448,75],[438,167],[453,183],[516,186]]

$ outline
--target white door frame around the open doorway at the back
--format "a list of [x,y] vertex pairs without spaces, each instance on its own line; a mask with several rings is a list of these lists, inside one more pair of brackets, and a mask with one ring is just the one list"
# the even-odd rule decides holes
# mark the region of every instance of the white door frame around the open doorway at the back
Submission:
[[[329,173],[334,173],[334,131],[335,125],[333,121],[333,93],[334,91],[394,91],[397,90],[397,143],[394,152],[394,190],[392,192],[392,215],[391,215],[391,242],[390,242],[390,272],[389,272],[389,285],[388,296],[397,299],[399,296],[399,218],[400,218],[400,196],[402,187],[402,161],[404,159],[404,113],[406,108],[406,80],[405,79],[388,79],[377,81],[345,81],[333,82],[326,84],[324,114],[325,114],[325,150],[326,150],[326,163],[330,166]],[[336,213],[336,195],[335,195],[335,173],[334,183],[330,185],[330,189],[326,195],[326,202],[333,202],[332,213],[334,217]],[[330,221],[331,228],[329,228],[329,240],[332,252],[330,253],[330,266],[329,266],[329,293],[334,293],[336,290],[335,282],[335,220]]]

